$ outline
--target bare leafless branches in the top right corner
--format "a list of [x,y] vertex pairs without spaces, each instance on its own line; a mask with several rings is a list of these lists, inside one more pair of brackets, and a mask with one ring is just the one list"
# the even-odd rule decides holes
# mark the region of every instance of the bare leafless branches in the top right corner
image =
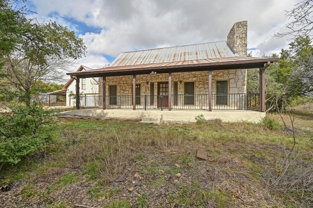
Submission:
[[[294,39],[299,36],[312,36],[313,31],[313,0],[302,0],[290,11],[286,12],[289,22],[286,27],[290,30],[284,33],[275,34],[276,37],[292,36]],[[312,39],[311,39],[312,40]]]

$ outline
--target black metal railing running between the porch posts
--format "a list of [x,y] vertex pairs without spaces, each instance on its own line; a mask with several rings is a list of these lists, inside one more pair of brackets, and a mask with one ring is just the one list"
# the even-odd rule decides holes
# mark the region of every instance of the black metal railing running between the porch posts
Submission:
[[[136,96],[136,109],[168,108],[169,96]],[[81,108],[102,108],[103,96],[80,96]],[[172,109],[209,109],[207,94],[172,95]],[[212,94],[213,110],[259,110],[260,95],[254,93]],[[106,96],[106,108],[133,108],[132,95]]]

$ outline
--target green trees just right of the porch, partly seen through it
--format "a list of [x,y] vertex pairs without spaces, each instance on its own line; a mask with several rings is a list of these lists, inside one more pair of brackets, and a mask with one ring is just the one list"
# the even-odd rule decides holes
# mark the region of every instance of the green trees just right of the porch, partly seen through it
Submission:
[[[297,37],[289,45],[288,49],[282,49],[279,61],[270,64],[265,70],[268,110],[282,108],[282,96],[291,103],[294,98],[310,96],[313,93],[312,42],[308,36]],[[273,54],[272,57],[277,55]],[[248,70],[247,92],[259,92],[258,70]]]

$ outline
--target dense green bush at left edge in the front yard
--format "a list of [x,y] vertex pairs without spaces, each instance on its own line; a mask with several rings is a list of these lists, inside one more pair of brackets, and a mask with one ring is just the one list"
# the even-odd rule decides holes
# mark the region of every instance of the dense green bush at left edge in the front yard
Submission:
[[38,105],[14,106],[0,113],[0,170],[3,164],[17,164],[52,144],[54,114]]

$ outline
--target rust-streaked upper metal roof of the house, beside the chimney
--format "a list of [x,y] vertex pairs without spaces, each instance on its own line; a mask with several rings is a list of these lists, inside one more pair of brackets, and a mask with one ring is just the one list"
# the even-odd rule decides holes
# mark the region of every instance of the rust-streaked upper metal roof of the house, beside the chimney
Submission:
[[111,64],[115,66],[186,62],[238,57],[226,41],[123,52]]

